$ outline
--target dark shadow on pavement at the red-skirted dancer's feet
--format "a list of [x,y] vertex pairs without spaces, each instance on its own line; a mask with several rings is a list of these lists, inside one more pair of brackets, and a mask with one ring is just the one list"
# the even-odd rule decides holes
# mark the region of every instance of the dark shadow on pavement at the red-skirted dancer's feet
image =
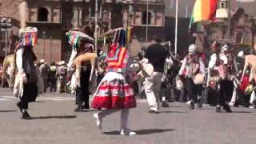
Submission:
[[[174,129],[147,129],[147,130],[134,130],[138,135],[144,135],[144,134],[157,134],[157,133],[164,133],[168,131],[174,131]],[[108,135],[119,135],[120,131],[108,131],[108,132],[103,132],[103,134],[108,134]]]

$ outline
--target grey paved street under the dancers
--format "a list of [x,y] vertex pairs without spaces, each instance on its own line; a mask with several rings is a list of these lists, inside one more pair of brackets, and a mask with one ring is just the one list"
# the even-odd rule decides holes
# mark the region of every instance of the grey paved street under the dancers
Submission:
[[233,108],[217,114],[214,107],[188,110],[184,103],[170,103],[160,114],[148,114],[145,100],[130,110],[130,127],[138,135],[118,135],[120,114],[103,119],[102,132],[95,125],[94,110],[74,112],[74,96],[42,94],[30,103],[31,120],[22,120],[17,99],[0,91],[0,143],[2,144],[254,144],[256,110]]

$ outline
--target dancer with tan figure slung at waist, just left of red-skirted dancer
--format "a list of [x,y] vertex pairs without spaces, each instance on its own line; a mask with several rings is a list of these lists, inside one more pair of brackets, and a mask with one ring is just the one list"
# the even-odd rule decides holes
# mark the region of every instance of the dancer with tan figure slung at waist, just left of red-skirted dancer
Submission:
[[[94,38],[79,31],[70,30],[66,33],[68,42],[72,46],[72,54],[67,66],[70,69],[75,66],[75,73],[71,79],[71,86],[76,90],[76,108],[74,111],[82,112],[89,109],[89,83],[94,73],[94,64],[97,54],[94,54],[94,46],[91,44]],[[90,62],[90,64],[86,64]]]

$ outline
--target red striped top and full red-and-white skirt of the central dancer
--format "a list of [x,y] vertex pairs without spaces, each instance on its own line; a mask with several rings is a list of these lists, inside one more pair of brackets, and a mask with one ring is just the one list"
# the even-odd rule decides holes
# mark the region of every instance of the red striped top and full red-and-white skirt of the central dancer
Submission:
[[122,75],[126,72],[128,51],[125,47],[111,46],[108,55],[106,75],[102,78],[94,96],[92,107],[95,109],[123,109],[136,106],[134,91]]

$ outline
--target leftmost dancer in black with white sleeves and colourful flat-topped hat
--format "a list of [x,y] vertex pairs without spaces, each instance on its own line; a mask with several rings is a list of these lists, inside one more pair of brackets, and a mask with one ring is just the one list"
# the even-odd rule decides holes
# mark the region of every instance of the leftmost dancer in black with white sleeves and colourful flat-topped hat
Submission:
[[38,94],[37,75],[34,66],[36,56],[33,52],[33,46],[37,42],[37,29],[27,27],[20,34],[21,43],[15,50],[16,66],[18,74],[14,84],[14,94],[18,95],[20,102],[18,108],[22,112],[22,118],[28,119],[28,103],[34,102]]

